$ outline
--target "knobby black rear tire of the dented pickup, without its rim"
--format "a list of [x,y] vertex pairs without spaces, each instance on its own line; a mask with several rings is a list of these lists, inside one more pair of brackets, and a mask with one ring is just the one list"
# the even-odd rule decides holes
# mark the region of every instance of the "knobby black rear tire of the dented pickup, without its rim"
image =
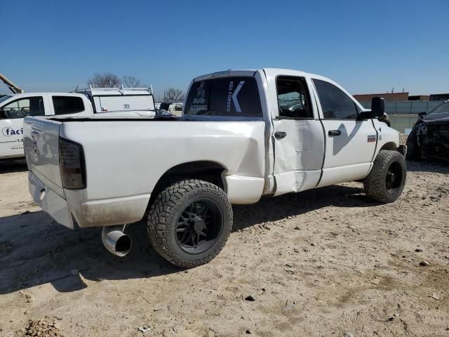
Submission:
[[[207,251],[192,255],[183,251],[176,238],[176,225],[180,214],[196,199],[207,198],[215,202],[222,215],[222,230]],[[149,241],[166,260],[182,268],[192,268],[215,258],[227,242],[232,230],[232,206],[227,194],[218,186],[203,180],[180,180],[166,187],[154,199],[147,221]]]

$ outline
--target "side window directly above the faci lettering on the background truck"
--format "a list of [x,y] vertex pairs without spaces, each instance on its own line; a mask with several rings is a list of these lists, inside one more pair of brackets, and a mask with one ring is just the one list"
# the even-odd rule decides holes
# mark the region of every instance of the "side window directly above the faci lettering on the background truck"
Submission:
[[43,98],[27,97],[8,103],[0,109],[0,119],[25,118],[27,116],[44,116]]

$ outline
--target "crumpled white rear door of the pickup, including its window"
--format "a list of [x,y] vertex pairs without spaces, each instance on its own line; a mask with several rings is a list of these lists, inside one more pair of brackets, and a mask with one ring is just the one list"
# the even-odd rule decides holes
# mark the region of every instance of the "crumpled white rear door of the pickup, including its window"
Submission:
[[307,74],[264,70],[273,120],[276,195],[316,187],[324,157],[323,126]]

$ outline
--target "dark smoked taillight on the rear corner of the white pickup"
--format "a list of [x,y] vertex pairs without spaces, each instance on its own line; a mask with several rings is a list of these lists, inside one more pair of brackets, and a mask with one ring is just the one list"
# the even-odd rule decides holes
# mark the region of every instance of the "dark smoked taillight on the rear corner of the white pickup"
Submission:
[[81,145],[59,138],[59,162],[62,187],[68,190],[86,188],[86,169]]

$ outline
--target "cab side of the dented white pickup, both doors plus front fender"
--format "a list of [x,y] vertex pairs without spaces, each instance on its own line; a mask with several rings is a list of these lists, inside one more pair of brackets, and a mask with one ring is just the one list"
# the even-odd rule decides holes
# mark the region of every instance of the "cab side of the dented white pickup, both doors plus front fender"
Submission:
[[[276,194],[364,178],[398,132],[373,118],[342,86],[304,72],[267,69]],[[390,146],[387,145],[387,146]]]

